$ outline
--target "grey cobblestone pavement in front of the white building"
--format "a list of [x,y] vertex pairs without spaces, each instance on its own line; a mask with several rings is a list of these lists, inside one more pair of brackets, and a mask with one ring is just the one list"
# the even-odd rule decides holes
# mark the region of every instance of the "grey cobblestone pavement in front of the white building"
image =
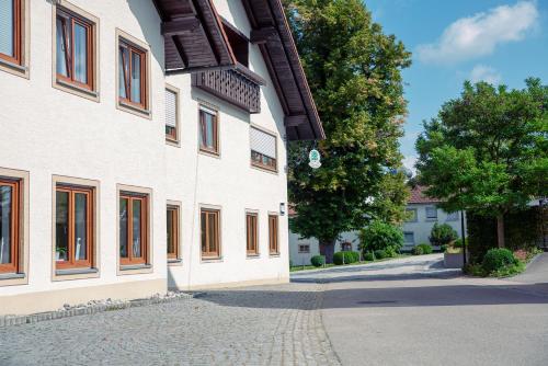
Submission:
[[0,365],[338,365],[321,302],[287,284],[8,327]]

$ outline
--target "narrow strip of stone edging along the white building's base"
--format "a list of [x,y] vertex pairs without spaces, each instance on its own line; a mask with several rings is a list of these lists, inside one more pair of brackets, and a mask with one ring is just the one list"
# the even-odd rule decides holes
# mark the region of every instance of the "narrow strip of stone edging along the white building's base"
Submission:
[[[171,294],[172,295],[168,294],[167,296],[163,296],[163,297],[160,296],[159,294],[157,294],[153,297],[135,299],[135,300],[127,300],[127,301],[95,302],[95,304],[91,304],[91,305],[79,305],[76,307],[65,306],[65,309],[55,310],[55,311],[37,312],[37,313],[27,314],[27,316],[10,316],[10,314],[0,316],[0,328],[11,327],[11,325],[20,325],[20,324],[33,324],[33,323],[37,323],[39,321],[47,321],[47,320],[62,319],[62,318],[78,317],[78,316],[87,316],[87,314],[93,314],[93,313],[98,313],[98,312],[122,310],[122,309],[129,309],[129,308],[138,308],[138,307],[158,305],[158,304],[167,304],[167,302],[173,302],[176,300],[192,299],[194,297],[199,297],[203,295],[202,293],[194,293],[194,294],[189,294],[189,293],[173,294],[173,293],[171,293]],[[94,302],[94,301],[90,301],[90,302]]]

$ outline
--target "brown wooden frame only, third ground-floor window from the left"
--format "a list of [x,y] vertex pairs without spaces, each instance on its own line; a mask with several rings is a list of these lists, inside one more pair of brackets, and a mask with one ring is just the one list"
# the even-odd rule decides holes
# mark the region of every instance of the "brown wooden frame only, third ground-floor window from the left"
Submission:
[[[118,202],[122,199],[127,199],[127,258],[122,256],[119,249],[122,248],[122,242],[118,239],[118,255],[119,264],[124,265],[135,265],[135,264],[148,264],[149,263],[149,250],[148,250],[148,216],[149,216],[149,195],[144,193],[134,193],[121,191],[118,195]],[[133,255],[133,203],[134,201],[141,202],[141,219],[140,219],[140,252],[141,256],[134,258]],[[119,228],[119,209],[118,207],[118,230]],[[118,232],[119,238],[121,232]]]

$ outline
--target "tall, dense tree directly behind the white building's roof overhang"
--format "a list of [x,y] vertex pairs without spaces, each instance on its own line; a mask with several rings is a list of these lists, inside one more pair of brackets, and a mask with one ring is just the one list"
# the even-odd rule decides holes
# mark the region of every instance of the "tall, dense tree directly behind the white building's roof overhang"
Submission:
[[362,0],[286,0],[289,24],[327,139],[322,167],[307,164],[315,142],[289,146],[294,232],[315,237],[331,262],[344,231],[372,218],[399,221],[407,199],[401,165],[407,103],[401,69],[410,53],[372,21]]

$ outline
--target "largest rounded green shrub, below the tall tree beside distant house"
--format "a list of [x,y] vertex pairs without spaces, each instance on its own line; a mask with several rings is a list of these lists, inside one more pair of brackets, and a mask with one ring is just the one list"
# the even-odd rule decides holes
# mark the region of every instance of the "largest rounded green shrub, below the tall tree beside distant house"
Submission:
[[403,232],[400,227],[375,220],[359,232],[362,252],[386,251],[390,256],[403,245]]

